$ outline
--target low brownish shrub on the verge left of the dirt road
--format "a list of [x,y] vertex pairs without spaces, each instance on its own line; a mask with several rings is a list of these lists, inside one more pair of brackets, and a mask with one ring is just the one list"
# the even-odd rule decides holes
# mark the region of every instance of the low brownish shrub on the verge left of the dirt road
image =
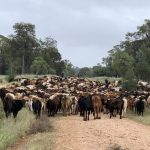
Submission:
[[37,119],[30,127],[29,134],[36,134],[38,132],[47,132],[51,128],[49,118],[46,115]]

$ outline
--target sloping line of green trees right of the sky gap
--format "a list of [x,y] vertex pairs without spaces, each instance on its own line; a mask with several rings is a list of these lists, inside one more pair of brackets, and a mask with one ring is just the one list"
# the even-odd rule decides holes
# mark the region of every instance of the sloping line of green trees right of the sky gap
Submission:
[[82,68],[81,74],[150,81],[150,20],[145,20],[136,32],[127,33],[125,40],[108,53],[103,66]]

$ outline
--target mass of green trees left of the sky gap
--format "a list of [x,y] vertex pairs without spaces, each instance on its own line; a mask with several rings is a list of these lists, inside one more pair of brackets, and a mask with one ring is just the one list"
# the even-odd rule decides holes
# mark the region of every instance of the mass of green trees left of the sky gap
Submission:
[[0,35],[0,74],[75,74],[75,67],[62,60],[57,41],[36,37],[35,25],[16,23],[14,34]]

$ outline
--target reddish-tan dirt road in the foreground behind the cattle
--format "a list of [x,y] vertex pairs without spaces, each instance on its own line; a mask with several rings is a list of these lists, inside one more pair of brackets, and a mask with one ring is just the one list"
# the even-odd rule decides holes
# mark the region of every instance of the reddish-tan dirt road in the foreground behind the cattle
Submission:
[[[101,120],[93,120],[91,116],[90,121],[85,122],[79,116],[69,116],[53,118],[52,122],[54,131],[49,134],[53,134],[53,148],[45,146],[43,150],[113,150],[115,147],[150,150],[150,127],[126,118],[102,116]],[[41,136],[38,140],[46,139]],[[32,137],[22,142],[23,145],[17,146],[18,150],[31,141]]]

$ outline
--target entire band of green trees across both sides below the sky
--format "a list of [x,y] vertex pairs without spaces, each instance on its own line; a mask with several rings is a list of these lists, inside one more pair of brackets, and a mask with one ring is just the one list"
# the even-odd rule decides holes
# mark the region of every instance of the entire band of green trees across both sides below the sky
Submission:
[[[62,60],[57,41],[38,39],[35,25],[16,23],[14,34],[0,36],[0,74],[57,74],[81,77],[115,76],[124,80],[150,81],[150,20],[145,20],[137,31],[127,33],[125,40],[114,46],[103,59],[103,65],[91,68],[74,67]],[[129,85],[132,87],[132,85]]]

